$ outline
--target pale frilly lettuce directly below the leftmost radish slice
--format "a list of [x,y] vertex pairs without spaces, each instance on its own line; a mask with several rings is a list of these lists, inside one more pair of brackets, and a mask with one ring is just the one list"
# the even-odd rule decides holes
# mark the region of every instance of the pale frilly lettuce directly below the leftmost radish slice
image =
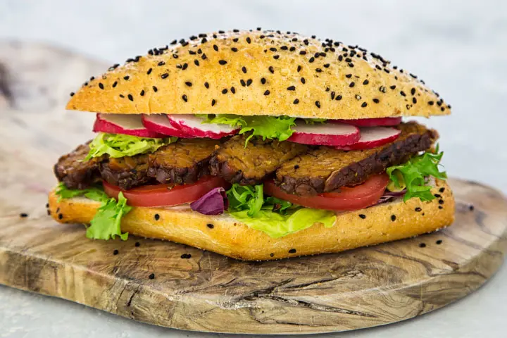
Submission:
[[176,142],[177,137],[151,139],[125,134],[108,134],[99,132],[89,144],[90,151],[84,161],[108,154],[111,157],[134,156],[152,153],[165,144]]

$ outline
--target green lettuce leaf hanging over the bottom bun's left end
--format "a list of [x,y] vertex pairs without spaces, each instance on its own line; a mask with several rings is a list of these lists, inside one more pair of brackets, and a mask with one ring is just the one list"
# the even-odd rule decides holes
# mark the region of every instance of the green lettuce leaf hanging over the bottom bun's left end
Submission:
[[90,187],[88,189],[68,189],[65,184],[60,183],[56,188],[58,201],[61,199],[71,199],[77,196],[85,196],[94,201],[101,202],[94,218],[90,221],[87,228],[87,237],[89,239],[115,239],[116,236],[124,241],[128,238],[128,232],[122,233],[120,228],[121,218],[127,214],[132,207],[127,206],[127,199],[120,192],[118,201],[109,197],[101,187]]

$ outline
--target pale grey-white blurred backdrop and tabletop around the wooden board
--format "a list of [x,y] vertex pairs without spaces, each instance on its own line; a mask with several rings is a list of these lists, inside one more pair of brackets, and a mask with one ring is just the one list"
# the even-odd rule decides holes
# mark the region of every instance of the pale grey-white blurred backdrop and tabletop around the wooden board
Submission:
[[[44,42],[108,63],[123,63],[127,58],[145,54],[153,46],[163,46],[175,38],[199,32],[259,26],[359,44],[422,77],[453,108],[450,117],[423,121],[436,127],[441,135],[440,144],[446,153],[444,165],[449,175],[484,182],[507,192],[507,151],[503,149],[506,142],[502,141],[507,123],[504,104],[507,99],[507,1],[0,0],[0,40]],[[76,87],[91,75],[96,74],[76,78]],[[486,287],[449,308],[407,323],[358,334],[361,337],[363,334],[364,337],[388,334],[389,337],[407,337],[407,334],[409,337],[506,337],[501,330],[507,303],[506,281],[504,266]],[[20,332],[25,335],[18,335],[13,327],[30,325],[18,323],[30,318],[23,317],[20,304],[27,304],[25,310],[37,306],[40,311],[53,309],[61,314],[57,316],[60,319],[54,318],[59,324],[41,329],[39,336],[23,330]],[[94,333],[115,332],[108,337],[131,337],[130,334],[132,337],[201,337],[159,330],[104,313],[101,315],[106,319],[100,318],[96,315],[98,311],[63,301],[46,303],[44,297],[5,287],[0,287],[2,311],[11,315],[8,318],[0,315],[0,327],[11,325],[8,328],[14,331],[2,334],[4,329],[0,329],[0,337],[49,337],[58,332],[63,336],[65,332],[73,332],[75,337],[81,337],[78,332],[84,332],[87,326],[72,317],[73,311],[93,318],[89,320],[96,325]],[[15,311],[18,312],[13,315]],[[65,326],[65,321],[74,321],[77,326]],[[44,326],[42,322],[39,324]],[[82,330],[74,332],[77,327]],[[484,334],[482,330],[489,333]],[[120,332],[125,335],[115,335]]]

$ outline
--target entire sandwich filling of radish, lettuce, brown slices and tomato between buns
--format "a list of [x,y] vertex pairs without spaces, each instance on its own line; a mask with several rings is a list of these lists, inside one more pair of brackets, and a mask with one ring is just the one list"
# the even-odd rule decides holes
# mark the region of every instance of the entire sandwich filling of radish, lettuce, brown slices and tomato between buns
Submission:
[[129,129],[107,115],[97,115],[95,139],[54,166],[61,198],[101,202],[87,230],[93,239],[126,239],[120,220],[132,206],[180,205],[277,238],[332,227],[337,212],[431,201],[431,177],[446,178],[437,132],[401,118],[156,115],[156,127]]

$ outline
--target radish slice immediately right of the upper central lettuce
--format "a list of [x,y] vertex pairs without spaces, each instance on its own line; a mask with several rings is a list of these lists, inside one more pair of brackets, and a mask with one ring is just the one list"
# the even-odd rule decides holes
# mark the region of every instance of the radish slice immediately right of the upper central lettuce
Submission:
[[307,125],[304,122],[296,122],[292,127],[294,133],[288,141],[315,144],[320,146],[346,146],[359,140],[359,129],[353,125],[342,123],[323,123]]

